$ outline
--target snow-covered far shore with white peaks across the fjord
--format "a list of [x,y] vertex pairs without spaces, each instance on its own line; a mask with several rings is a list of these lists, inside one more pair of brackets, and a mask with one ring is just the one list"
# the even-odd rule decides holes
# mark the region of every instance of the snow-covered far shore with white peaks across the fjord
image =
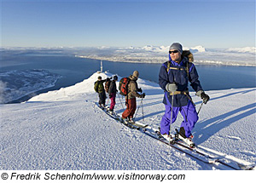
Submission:
[[[139,62],[139,63],[163,63],[168,59],[169,46],[129,47],[84,49],[76,53],[81,58],[96,60]],[[236,49],[206,49],[203,46],[185,47],[194,54],[195,64],[224,65],[224,66],[256,66],[255,47]]]

